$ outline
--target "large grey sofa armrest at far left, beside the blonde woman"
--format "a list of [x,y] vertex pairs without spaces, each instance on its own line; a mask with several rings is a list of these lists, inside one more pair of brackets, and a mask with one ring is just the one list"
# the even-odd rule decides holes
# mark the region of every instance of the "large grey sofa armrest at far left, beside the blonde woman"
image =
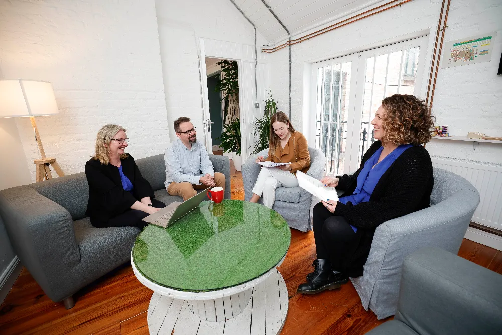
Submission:
[[[70,213],[29,186],[0,191],[0,215],[14,252],[54,301],[80,263]],[[81,278],[80,280],[84,280]],[[78,281],[78,279],[77,279]]]

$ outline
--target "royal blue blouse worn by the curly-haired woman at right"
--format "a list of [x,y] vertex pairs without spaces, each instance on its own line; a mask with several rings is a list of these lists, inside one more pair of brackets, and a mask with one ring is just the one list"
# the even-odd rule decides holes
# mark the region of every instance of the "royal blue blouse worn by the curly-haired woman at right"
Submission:
[[[354,193],[348,196],[343,196],[339,201],[343,204],[351,202],[353,205],[357,205],[361,202],[369,201],[373,190],[378,184],[380,177],[387,171],[387,169],[394,163],[394,161],[409,147],[411,144],[403,144],[394,149],[389,155],[378,163],[378,159],[384,147],[380,147],[376,152],[364,163],[364,167],[357,176],[357,188]],[[373,167],[374,166],[374,167]],[[354,232],[357,232],[357,227],[350,225]]]

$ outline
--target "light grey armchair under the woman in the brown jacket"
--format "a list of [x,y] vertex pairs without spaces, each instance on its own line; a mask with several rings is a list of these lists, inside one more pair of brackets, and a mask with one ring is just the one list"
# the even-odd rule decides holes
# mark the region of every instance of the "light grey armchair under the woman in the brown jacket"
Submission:
[[[253,195],[252,190],[262,167],[255,160],[258,156],[267,156],[268,151],[267,148],[257,155],[249,156],[246,162],[242,164],[242,179],[246,201],[249,201]],[[309,154],[310,168],[307,175],[321,179],[324,175],[326,157],[322,151],[313,147],[309,147]],[[276,188],[276,200],[272,209],[281,214],[291,228],[306,232],[312,230],[312,201],[312,195],[301,187],[278,187]],[[314,199],[314,202],[317,203],[319,200]],[[263,204],[262,198],[260,198],[259,203]]]

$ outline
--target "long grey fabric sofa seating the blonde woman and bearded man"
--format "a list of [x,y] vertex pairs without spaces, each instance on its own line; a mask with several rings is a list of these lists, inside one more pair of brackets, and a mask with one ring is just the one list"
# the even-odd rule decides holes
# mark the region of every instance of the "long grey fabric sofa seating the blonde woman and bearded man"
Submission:
[[[226,177],[228,157],[209,155],[214,170]],[[136,160],[156,199],[182,202],[164,186],[164,155]],[[83,172],[0,191],[0,216],[22,264],[53,301],[73,306],[72,295],[121,264],[129,262],[140,232],[135,227],[95,228],[85,215],[89,188]]]

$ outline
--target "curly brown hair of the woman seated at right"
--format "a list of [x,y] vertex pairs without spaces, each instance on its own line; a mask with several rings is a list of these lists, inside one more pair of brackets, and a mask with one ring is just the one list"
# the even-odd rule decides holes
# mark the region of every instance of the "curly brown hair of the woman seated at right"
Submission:
[[382,100],[382,143],[420,145],[430,141],[435,118],[424,100],[408,94],[394,94]]

